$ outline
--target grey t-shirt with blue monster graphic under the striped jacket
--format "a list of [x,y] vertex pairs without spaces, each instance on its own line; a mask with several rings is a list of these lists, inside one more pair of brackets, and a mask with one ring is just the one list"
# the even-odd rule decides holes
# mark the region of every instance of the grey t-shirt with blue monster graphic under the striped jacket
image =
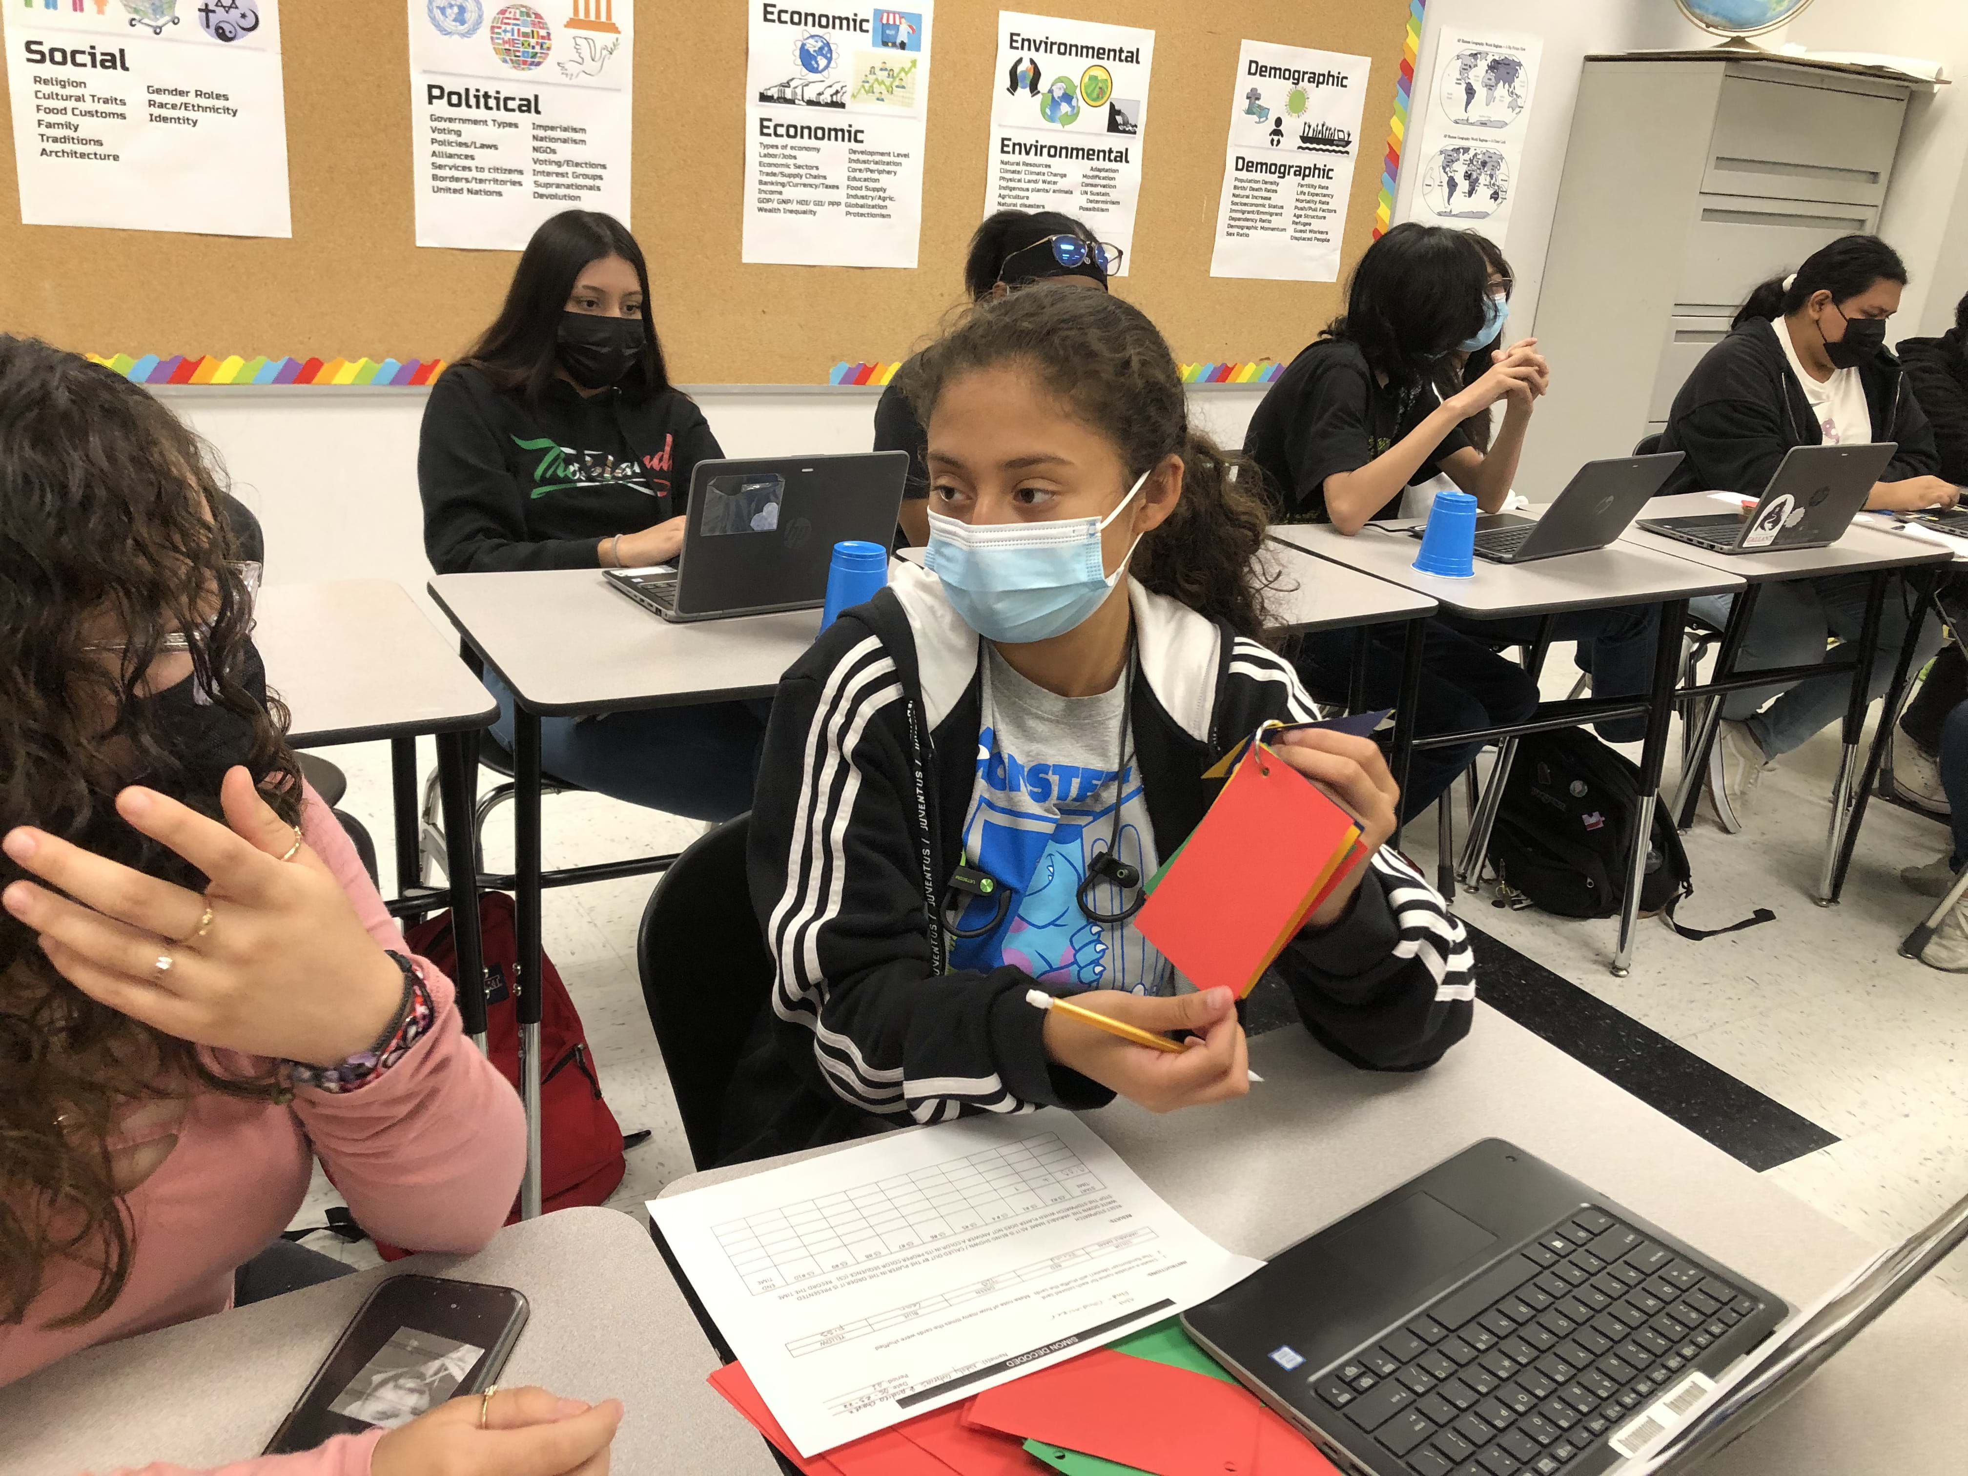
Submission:
[[[984,649],[984,730],[964,815],[964,860],[1006,888],[1010,903],[990,933],[954,941],[953,962],[980,970],[1014,964],[1088,990],[1189,990],[1132,921],[1086,915],[1112,917],[1139,897],[1138,890],[1096,882],[1086,909],[1078,901],[1088,864],[1110,848],[1143,878],[1159,864],[1124,730],[1126,679],[1096,697],[1059,697],[1025,681],[988,644]],[[972,899],[958,923],[980,927],[994,909],[994,901]]]

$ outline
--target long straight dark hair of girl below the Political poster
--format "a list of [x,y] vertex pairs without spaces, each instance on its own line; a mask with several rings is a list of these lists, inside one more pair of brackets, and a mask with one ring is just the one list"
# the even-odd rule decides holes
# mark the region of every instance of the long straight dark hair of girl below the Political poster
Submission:
[[669,364],[649,315],[649,264],[628,226],[600,211],[561,211],[539,222],[539,230],[520,252],[506,303],[492,327],[461,358],[461,364],[488,374],[498,386],[539,401],[555,380],[561,313],[567,295],[588,262],[620,256],[636,268],[642,283],[642,356],[622,378],[632,394],[659,394],[669,388]]

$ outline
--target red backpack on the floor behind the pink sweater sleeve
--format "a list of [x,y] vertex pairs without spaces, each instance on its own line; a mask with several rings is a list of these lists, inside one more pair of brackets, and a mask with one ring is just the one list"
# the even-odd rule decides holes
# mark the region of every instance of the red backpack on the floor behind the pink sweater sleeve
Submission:
[[[478,931],[486,966],[486,1053],[492,1065],[518,1088],[520,1012],[512,992],[520,958],[518,909],[504,892],[478,897]],[[453,974],[459,966],[451,937],[451,913],[443,911],[407,933],[409,951]],[[539,1206],[565,1210],[573,1204],[600,1204],[622,1183],[622,1124],[602,1098],[581,1015],[567,994],[553,960],[539,960]],[[506,1224],[520,1218],[518,1206]],[[376,1244],[384,1260],[407,1250]]]

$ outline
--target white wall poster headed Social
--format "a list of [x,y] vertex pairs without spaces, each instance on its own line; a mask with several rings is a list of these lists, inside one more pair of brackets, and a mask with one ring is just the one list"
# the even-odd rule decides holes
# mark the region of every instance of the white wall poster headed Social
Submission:
[[20,218],[291,236],[279,0],[8,0]]

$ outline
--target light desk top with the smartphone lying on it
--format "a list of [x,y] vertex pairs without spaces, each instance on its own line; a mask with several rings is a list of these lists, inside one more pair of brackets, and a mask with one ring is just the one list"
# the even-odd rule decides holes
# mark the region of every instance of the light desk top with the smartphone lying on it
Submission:
[[498,1382],[622,1399],[616,1472],[775,1476],[766,1443],[705,1384],[718,1358],[647,1232],[602,1208],[508,1226],[476,1256],[411,1256],[63,1358],[0,1389],[0,1472],[256,1456],[376,1283],[403,1271],[525,1293]]

